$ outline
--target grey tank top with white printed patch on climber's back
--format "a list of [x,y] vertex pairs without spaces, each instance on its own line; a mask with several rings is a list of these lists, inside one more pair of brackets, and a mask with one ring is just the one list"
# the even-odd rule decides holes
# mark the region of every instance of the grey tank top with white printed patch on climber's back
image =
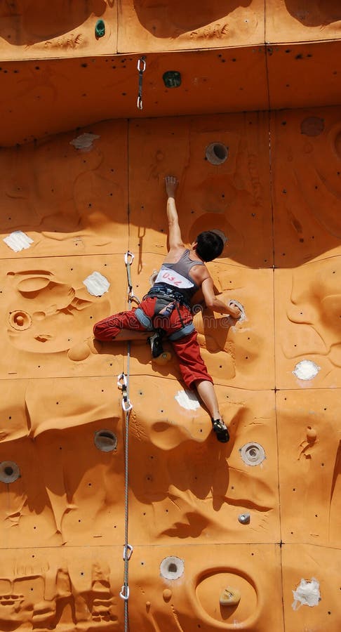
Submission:
[[202,261],[192,261],[189,258],[189,249],[187,248],[176,263],[163,263],[161,265],[161,270],[155,279],[153,289],[158,287],[161,289],[161,285],[166,284],[175,291],[180,292],[189,302],[199,289],[199,285],[189,276],[189,270],[194,265],[205,264]]

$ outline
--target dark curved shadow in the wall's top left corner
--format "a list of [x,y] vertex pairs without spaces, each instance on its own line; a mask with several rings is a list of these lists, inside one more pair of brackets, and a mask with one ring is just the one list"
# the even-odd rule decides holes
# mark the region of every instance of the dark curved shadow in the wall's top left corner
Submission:
[[79,27],[93,13],[102,15],[106,6],[105,0],[55,0],[52,4],[46,4],[45,0],[1,2],[0,37],[14,46],[36,44]]

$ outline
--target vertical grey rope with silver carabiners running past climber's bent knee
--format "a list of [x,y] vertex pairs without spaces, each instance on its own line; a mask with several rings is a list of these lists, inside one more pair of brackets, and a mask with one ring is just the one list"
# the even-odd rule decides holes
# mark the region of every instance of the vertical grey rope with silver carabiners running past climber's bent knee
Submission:
[[[131,303],[135,301],[136,303],[140,303],[138,297],[135,296],[133,292],[133,282],[131,280],[131,264],[134,261],[134,255],[130,251],[127,251],[124,255],[124,263],[126,264],[127,270],[127,279],[128,279],[128,308],[131,309]],[[129,616],[128,616],[128,599],[129,599],[129,560],[131,559],[131,555],[133,553],[133,546],[128,543],[128,522],[129,522],[129,498],[128,498],[128,486],[129,486],[129,418],[131,414],[131,409],[133,408],[133,404],[129,399],[129,376],[130,376],[130,361],[131,361],[131,343],[128,341],[127,348],[127,368],[126,374],[121,373],[117,376],[117,386],[122,392],[122,409],[125,414],[126,419],[126,432],[125,432],[125,440],[124,440],[124,508],[125,508],[125,518],[124,518],[124,546],[123,546],[123,561],[124,561],[124,572],[123,572],[123,586],[121,588],[121,592],[119,593],[120,597],[124,600],[124,632],[128,632],[129,630]]]

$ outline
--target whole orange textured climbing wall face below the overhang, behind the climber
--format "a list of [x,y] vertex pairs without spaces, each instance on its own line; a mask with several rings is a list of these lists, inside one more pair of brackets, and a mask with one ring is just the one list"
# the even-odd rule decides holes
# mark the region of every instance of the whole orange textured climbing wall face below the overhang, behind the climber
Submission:
[[[196,297],[227,445],[176,359],[161,366],[131,344],[131,629],[338,631],[339,123],[337,108],[108,121],[1,151],[2,237],[33,240],[0,244],[4,632],[124,629],[127,346],[94,342],[92,327],[126,308],[128,248],[133,291],[149,289],[172,172],[185,240],[227,232],[209,268],[246,319],[222,327]],[[100,138],[69,145],[83,133]],[[228,155],[213,165],[216,142]],[[83,283],[93,272],[109,282],[101,296]],[[111,452],[95,446],[98,431],[114,433]],[[321,600],[293,610],[302,579],[319,582]]]

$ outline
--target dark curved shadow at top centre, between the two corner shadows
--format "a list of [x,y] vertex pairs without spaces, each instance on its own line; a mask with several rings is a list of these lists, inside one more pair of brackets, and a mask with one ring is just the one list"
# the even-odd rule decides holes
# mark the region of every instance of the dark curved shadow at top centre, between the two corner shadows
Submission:
[[142,26],[155,37],[178,37],[224,18],[239,6],[249,6],[252,0],[202,0],[200,11],[196,0],[134,0],[136,15]]

